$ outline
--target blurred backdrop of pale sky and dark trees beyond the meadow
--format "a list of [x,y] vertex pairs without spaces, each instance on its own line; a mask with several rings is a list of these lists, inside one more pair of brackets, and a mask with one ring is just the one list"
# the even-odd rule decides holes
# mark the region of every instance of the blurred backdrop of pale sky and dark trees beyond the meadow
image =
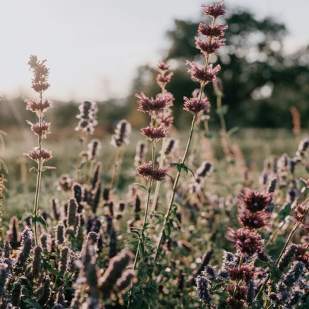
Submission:
[[[1,4],[0,124],[22,131],[25,98],[34,94],[27,60],[48,60],[55,108],[48,112],[53,129],[65,132],[77,123],[77,105],[96,100],[101,131],[119,119],[133,127],[145,124],[136,111],[136,92],[155,96],[157,61],[171,65],[168,90],[175,101],[175,124],[185,128],[183,96],[197,83],[185,60],[199,60],[194,46],[202,15],[201,0],[101,1],[23,0]],[[212,3],[212,2],[211,2]],[[223,104],[228,127],[291,129],[292,114],[308,128],[309,2],[307,0],[225,1],[226,46],[218,58],[223,70]],[[213,101],[213,89],[206,89]],[[211,127],[216,128],[217,117]]]

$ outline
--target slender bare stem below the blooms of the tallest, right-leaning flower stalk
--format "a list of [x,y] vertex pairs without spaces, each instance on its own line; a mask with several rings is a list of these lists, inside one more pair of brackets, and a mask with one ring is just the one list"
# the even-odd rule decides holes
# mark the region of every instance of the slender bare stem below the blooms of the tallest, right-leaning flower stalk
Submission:
[[[204,88],[204,86],[201,86],[200,97],[202,97],[202,88]],[[190,136],[188,138],[187,147],[185,148],[185,153],[183,155],[183,159],[181,160],[181,164],[185,164],[185,159],[187,159],[189,148],[190,148],[190,143],[191,143],[191,140],[192,140],[193,131],[195,129],[195,121],[196,120],[197,120],[197,114],[195,114],[193,116],[193,119],[192,119]],[[157,249],[156,249],[156,254],[155,254],[154,262],[157,261],[157,258],[159,257],[160,248],[161,248],[162,241],[163,241],[163,238],[164,238],[164,230],[166,228],[167,222],[169,221],[169,216],[171,214],[171,209],[172,209],[172,206],[173,206],[173,200],[174,200],[175,195],[176,195],[178,180],[180,178],[180,172],[181,172],[181,169],[180,169],[180,171],[178,171],[178,173],[176,175],[176,178],[174,180],[174,183],[173,183],[173,192],[172,192],[172,195],[171,195],[171,199],[169,201],[168,209],[167,209],[165,217],[164,217],[164,223],[163,223],[163,226],[162,226],[162,230],[161,230],[161,232],[159,234],[159,242],[157,243]]]

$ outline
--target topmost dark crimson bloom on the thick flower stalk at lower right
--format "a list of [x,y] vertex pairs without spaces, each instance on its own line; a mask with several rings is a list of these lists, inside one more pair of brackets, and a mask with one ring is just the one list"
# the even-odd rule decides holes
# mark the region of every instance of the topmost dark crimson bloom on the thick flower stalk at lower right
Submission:
[[272,199],[272,193],[247,189],[240,197],[246,209],[252,212],[262,211]]

